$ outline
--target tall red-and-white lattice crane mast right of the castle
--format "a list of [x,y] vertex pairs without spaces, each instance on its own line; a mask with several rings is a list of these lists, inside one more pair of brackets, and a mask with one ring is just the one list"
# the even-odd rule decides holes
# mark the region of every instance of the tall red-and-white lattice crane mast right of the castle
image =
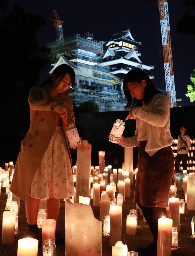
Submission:
[[163,43],[164,71],[167,97],[171,103],[171,107],[176,107],[177,103],[175,97],[173,58],[171,50],[171,35],[167,0],[158,0],[158,8],[160,11],[160,24]]

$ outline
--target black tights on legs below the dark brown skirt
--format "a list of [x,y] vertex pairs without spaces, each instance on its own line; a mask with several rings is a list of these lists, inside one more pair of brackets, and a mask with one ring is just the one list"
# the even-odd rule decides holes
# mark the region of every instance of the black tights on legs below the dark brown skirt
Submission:
[[167,210],[162,207],[148,207],[138,203],[139,208],[142,210],[144,218],[152,232],[154,244],[157,246],[158,238],[158,219],[164,216],[167,218]]

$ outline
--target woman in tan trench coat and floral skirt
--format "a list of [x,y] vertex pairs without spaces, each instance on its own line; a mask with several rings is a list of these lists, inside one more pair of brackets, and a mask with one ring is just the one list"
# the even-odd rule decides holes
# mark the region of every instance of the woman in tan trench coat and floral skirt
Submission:
[[25,201],[28,235],[38,240],[40,199],[47,199],[47,219],[57,222],[60,199],[74,195],[72,160],[62,119],[65,117],[68,124],[75,121],[66,92],[74,80],[74,70],[59,65],[41,86],[31,88],[28,97],[30,129],[21,142],[10,191]]

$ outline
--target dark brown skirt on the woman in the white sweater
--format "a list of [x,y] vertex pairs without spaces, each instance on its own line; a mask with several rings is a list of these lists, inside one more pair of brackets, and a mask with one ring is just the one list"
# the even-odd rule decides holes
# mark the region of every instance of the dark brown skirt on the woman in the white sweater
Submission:
[[174,171],[171,146],[161,148],[150,156],[145,152],[147,141],[138,146],[138,172],[134,203],[149,207],[168,207],[168,194]]

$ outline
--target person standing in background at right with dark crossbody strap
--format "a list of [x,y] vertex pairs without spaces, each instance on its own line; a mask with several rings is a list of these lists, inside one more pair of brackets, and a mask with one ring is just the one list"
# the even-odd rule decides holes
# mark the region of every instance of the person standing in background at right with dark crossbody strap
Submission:
[[175,171],[178,173],[180,162],[182,161],[183,170],[187,170],[187,158],[188,152],[190,150],[191,141],[190,136],[186,134],[186,127],[181,126],[180,135],[178,136],[178,144],[177,144],[177,156],[175,158]]

